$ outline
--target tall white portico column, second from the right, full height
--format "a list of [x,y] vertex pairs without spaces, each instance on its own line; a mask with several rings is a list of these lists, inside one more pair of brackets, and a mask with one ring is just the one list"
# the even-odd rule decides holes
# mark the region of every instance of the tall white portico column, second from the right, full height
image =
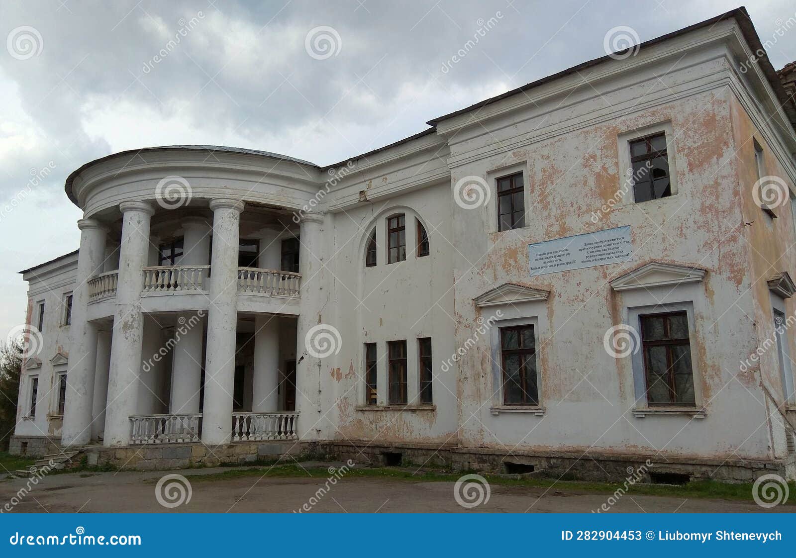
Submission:
[[235,383],[235,335],[238,313],[238,242],[244,203],[210,201],[213,210],[213,259],[205,358],[205,404],[202,442],[228,443],[232,435],[232,389]]

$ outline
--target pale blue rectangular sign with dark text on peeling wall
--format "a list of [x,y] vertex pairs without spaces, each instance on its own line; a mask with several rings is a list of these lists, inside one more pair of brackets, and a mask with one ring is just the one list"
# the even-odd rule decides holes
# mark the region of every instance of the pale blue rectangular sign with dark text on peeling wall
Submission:
[[633,259],[630,225],[528,245],[531,276]]

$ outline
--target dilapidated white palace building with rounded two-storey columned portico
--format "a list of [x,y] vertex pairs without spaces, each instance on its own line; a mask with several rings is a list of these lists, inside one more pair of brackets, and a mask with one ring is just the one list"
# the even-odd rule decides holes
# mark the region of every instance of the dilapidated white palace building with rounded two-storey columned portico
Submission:
[[88,162],[11,449],[794,479],[793,83],[739,9],[328,167]]

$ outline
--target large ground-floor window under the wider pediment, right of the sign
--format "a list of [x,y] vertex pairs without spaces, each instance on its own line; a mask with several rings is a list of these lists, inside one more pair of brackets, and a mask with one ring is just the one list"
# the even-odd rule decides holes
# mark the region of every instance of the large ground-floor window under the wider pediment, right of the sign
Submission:
[[685,312],[639,316],[647,404],[693,406],[689,320]]

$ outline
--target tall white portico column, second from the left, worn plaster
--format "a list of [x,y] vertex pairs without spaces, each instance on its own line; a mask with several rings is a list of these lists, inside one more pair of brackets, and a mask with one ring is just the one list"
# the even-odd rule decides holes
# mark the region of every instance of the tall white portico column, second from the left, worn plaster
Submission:
[[123,213],[122,244],[107,386],[106,446],[129,443],[130,416],[136,413],[144,327],[142,268],[149,254],[150,217],[154,215],[152,206],[143,201],[124,201],[119,209]]

